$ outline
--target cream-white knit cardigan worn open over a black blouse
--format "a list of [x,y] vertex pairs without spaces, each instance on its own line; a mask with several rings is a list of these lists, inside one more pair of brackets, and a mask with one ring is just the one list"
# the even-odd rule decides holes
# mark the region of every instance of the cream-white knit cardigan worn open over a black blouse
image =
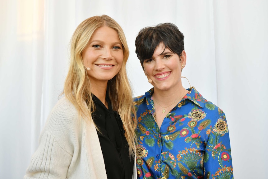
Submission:
[[[136,160],[133,176],[136,179]],[[104,159],[93,120],[79,120],[75,106],[63,97],[53,108],[24,179],[105,179]]]

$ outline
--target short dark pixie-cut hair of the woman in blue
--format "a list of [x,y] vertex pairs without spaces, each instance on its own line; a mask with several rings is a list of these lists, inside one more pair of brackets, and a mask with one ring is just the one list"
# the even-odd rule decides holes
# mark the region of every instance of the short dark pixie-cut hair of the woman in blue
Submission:
[[136,37],[135,46],[142,68],[144,60],[153,56],[156,47],[161,42],[164,45],[164,49],[168,48],[173,53],[181,56],[184,50],[183,41],[183,33],[172,23],[163,23],[141,29]]

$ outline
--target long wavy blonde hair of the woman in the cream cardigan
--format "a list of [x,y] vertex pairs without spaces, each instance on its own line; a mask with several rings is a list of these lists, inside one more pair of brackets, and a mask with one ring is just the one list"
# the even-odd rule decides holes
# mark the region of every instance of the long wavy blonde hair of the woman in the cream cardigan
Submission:
[[[78,109],[80,116],[90,116],[95,110],[91,96],[90,80],[85,70],[82,51],[85,49],[93,33],[102,26],[117,31],[123,47],[123,62],[118,74],[108,81],[107,91],[113,110],[121,117],[125,137],[129,145],[129,153],[135,154],[135,128],[137,125],[135,107],[132,102],[132,91],[127,78],[126,63],[129,56],[127,40],[119,24],[107,15],[93,16],[81,22],[72,35],[70,47],[70,67],[64,84],[64,94]],[[87,101],[88,106],[85,105]],[[134,117],[134,118],[133,118]],[[96,125],[95,125],[96,126]],[[96,127],[97,129],[97,127]]]

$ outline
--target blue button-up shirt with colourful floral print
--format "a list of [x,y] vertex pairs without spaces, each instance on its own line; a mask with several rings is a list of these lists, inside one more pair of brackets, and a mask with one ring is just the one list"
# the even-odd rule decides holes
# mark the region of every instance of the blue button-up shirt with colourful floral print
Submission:
[[233,178],[224,112],[194,87],[164,118],[155,121],[152,94],[134,98],[138,126],[138,178]]

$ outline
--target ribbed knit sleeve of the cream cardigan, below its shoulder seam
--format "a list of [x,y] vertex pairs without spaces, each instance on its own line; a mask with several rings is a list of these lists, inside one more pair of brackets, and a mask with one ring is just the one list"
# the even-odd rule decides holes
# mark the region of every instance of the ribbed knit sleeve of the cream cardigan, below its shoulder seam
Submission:
[[58,144],[56,139],[45,131],[34,153],[24,179],[66,179],[72,155]]

